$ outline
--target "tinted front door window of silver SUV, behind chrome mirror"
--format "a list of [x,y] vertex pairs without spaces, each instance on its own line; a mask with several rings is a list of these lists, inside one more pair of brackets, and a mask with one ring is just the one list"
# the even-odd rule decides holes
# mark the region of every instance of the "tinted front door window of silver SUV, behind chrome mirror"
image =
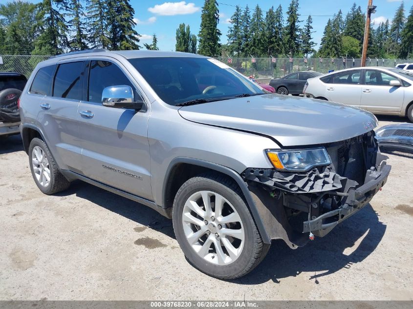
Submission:
[[102,92],[105,87],[120,85],[132,87],[134,97],[136,98],[135,86],[116,64],[101,60],[90,62],[87,101],[100,103],[102,102]]

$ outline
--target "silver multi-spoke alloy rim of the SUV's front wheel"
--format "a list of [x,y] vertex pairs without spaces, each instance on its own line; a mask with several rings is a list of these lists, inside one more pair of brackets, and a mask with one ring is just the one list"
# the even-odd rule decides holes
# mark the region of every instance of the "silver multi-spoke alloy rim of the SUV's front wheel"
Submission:
[[188,243],[204,260],[228,265],[240,256],[245,232],[237,210],[222,195],[198,191],[186,201],[182,225]]

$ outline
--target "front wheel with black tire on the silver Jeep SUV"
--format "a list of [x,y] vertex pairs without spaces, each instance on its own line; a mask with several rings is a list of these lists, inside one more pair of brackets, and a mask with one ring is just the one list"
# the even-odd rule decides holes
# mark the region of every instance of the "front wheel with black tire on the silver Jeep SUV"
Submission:
[[191,178],[179,188],[173,224],[188,260],[219,279],[246,275],[270,247],[262,242],[239,186],[219,174]]

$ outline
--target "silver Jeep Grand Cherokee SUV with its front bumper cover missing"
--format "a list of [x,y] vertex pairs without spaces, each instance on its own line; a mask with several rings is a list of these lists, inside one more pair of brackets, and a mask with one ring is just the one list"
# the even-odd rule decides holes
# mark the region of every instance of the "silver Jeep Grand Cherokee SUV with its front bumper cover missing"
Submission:
[[215,59],[92,50],[38,64],[21,133],[45,194],[80,179],[172,218],[188,260],[222,279],[271,240],[324,236],[369,203],[390,166],[376,118],[269,94]]

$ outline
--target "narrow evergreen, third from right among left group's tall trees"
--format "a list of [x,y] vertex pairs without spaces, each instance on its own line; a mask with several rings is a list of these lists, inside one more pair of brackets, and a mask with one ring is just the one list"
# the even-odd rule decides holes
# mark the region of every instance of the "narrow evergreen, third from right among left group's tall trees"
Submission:
[[74,34],[69,41],[70,50],[85,50],[88,46],[86,43],[86,28],[83,23],[85,14],[83,12],[81,0],[71,0],[67,11],[67,16],[72,18],[68,21],[68,25],[70,31]]

